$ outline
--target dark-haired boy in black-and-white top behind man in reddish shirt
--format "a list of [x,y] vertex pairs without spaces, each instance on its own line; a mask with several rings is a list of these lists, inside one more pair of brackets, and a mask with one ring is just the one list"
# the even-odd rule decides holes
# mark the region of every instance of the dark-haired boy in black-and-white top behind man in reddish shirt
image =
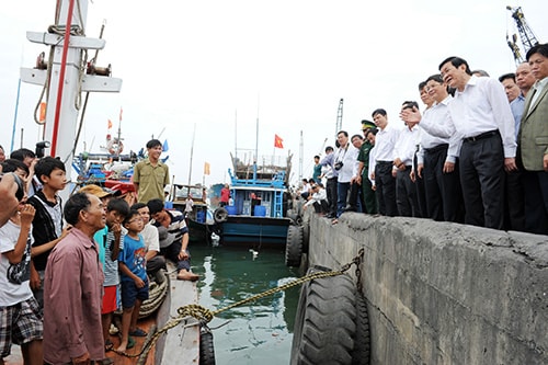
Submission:
[[52,249],[68,233],[69,227],[62,229],[61,198],[57,193],[65,189],[67,175],[65,163],[53,157],[44,157],[34,167],[34,172],[43,184],[43,189],[28,198],[35,209],[33,220],[31,288],[38,300],[41,309],[44,308],[44,290],[42,281],[46,271],[47,258]]

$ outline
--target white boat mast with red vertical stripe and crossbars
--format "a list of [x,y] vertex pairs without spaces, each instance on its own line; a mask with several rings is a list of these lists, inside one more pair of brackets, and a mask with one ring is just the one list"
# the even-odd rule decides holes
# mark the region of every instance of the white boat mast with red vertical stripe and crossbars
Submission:
[[[72,162],[81,92],[119,92],[122,79],[90,72],[84,50],[103,49],[104,39],[85,37],[88,1],[57,1],[55,25],[47,32],[26,32],[26,38],[52,47],[45,69],[21,68],[21,80],[47,89],[45,140],[49,155]],[[70,180],[71,169],[67,169]]]

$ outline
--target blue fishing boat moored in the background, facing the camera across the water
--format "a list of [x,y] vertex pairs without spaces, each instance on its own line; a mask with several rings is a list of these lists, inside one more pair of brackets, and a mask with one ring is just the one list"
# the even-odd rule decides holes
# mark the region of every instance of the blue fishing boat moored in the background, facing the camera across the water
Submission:
[[284,248],[292,219],[287,217],[292,155],[253,159],[232,157],[229,169],[231,204],[217,208],[220,244]]

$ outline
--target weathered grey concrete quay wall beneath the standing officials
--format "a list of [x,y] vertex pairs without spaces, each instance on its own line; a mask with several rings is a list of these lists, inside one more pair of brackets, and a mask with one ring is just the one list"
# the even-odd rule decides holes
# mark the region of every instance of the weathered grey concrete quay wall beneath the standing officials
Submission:
[[365,249],[372,364],[548,364],[548,237],[353,213],[334,226],[306,219],[309,265],[340,269]]

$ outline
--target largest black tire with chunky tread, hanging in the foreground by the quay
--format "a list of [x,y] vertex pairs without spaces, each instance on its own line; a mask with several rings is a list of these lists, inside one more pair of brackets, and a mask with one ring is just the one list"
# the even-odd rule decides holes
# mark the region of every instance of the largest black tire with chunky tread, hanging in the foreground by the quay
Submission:
[[[315,272],[317,270],[309,270]],[[302,284],[292,345],[292,365],[351,364],[356,293],[346,274]]]

